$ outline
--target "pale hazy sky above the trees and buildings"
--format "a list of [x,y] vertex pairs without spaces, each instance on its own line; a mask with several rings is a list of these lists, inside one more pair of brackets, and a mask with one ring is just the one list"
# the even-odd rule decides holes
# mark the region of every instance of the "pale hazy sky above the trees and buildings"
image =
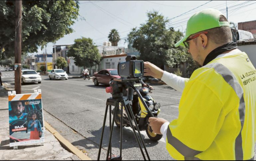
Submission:
[[[228,21],[239,22],[256,20],[256,1],[79,1],[79,18],[72,26],[74,32],[65,35],[56,42],[56,45],[73,44],[81,37],[91,38],[95,45],[102,45],[108,41],[111,29],[117,29],[121,40],[118,46],[127,47],[125,38],[132,28],[140,27],[147,21],[147,12],[158,11],[170,22],[167,26],[175,30],[186,32],[188,19],[197,11],[214,8],[226,16],[228,7]],[[53,43],[48,43],[47,53],[53,52]],[[41,54],[41,47],[38,53]],[[31,53],[30,53],[31,54]]]

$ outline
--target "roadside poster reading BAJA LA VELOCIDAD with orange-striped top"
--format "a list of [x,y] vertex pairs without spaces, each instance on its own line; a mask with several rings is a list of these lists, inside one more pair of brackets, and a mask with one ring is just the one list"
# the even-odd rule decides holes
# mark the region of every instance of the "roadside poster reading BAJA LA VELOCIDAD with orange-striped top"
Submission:
[[10,147],[44,143],[41,90],[32,94],[8,92]]

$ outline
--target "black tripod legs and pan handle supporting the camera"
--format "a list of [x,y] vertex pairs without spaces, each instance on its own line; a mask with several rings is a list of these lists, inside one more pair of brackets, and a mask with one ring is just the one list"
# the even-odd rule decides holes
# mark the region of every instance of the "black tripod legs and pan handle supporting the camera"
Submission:
[[[131,84],[131,83],[128,83],[126,84],[130,87],[130,89],[133,89],[137,92],[137,94],[139,95],[139,97],[142,99],[142,96],[140,95],[139,91]],[[133,91],[132,90],[132,91]],[[128,93],[131,93],[131,92],[128,92]],[[128,94],[129,95],[129,94]],[[119,109],[119,103],[121,103],[121,119],[120,119],[120,155],[116,156],[116,157],[111,157],[111,139],[112,139],[112,132],[113,132],[113,127],[114,127],[114,120],[115,120],[115,117],[116,117],[116,112],[117,110]],[[149,114],[151,116],[153,116],[153,114],[151,113],[151,111],[148,109],[146,103],[144,102],[143,100],[143,104],[144,106],[146,107],[147,111],[149,112]],[[100,152],[101,152],[101,146],[102,146],[102,139],[103,139],[103,134],[104,134],[104,128],[105,128],[105,124],[106,124],[106,118],[107,118],[107,112],[108,112],[108,106],[110,107],[109,108],[109,128],[110,128],[110,135],[109,135],[109,142],[108,142],[108,149],[107,149],[107,157],[106,157],[106,160],[109,159],[109,156],[110,156],[110,160],[122,160],[122,135],[123,135],[123,107],[125,109],[125,112],[128,116],[128,120],[130,122],[130,125],[132,127],[132,130],[133,130],[133,133],[135,135],[135,138],[136,138],[136,141],[139,145],[139,148],[140,148],[140,151],[142,153],[142,156],[144,158],[144,160],[146,160],[146,157],[145,157],[145,154],[142,150],[142,147],[141,147],[141,143],[145,149],[145,152],[146,152],[146,155],[147,155],[147,158],[148,160],[150,160],[149,158],[149,155],[148,155],[148,151],[146,149],[146,146],[145,146],[145,143],[141,137],[141,133],[140,133],[140,130],[139,130],[139,127],[136,123],[136,120],[134,118],[134,115],[133,115],[133,112],[132,112],[132,108],[129,104],[129,99],[127,97],[120,97],[120,98],[109,98],[107,99],[107,102],[106,102],[106,110],[105,110],[105,115],[104,115],[104,121],[103,121],[103,126],[102,126],[102,132],[101,132],[101,139],[100,139],[100,146],[99,146],[99,153],[98,153],[98,159],[100,159]],[[113,120],[112,120],[112,123],[111,123],[111,106],[114,106],[114,114],[113,114]],[[154,117],[154,116],[153,116]],[[134,123],[133,123],[134,121]],[[136,126],[136,129],[139,133],[139,137],[140,137],[140,140],[135,132],[135,128],[134,128],[134,125]]]

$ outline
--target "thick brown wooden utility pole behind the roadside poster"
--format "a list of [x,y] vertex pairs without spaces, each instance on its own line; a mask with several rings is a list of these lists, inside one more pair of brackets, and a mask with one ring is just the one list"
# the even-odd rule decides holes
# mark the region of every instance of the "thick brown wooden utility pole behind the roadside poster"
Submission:
[[21,94],[21,26],[22,26],[22,1],[15,1],[15,40],[14,40],[14,75],[15,75],[15,91]]

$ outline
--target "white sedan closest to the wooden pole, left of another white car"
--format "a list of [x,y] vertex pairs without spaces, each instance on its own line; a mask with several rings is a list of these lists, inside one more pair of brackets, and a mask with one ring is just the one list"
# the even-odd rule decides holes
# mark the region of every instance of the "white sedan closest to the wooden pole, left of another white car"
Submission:
[[22,84],[32,82],[38,82],[38,84],[40,84],[42,81],[41,76],[35,70],[22,70],[21,72]]

